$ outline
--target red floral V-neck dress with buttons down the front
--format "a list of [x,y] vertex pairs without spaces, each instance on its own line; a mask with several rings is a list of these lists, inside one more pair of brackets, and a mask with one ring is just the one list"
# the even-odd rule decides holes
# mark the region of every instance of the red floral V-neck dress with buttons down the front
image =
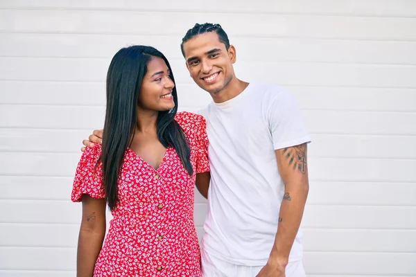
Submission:
[[[135,152],[126,150],[119,177],[119,203],[103,248],[95,277],[193,276],[200,277],[200,249],[193,222],[196,173],[209,171],[205,119],[178,113],[177,123],[190,141],[190,177],[174,148],[169,147],[157,170]],[[78,163],[71,200],[83,193],[104,198],[101,166],[94,166],[101,145],[87,148]]]

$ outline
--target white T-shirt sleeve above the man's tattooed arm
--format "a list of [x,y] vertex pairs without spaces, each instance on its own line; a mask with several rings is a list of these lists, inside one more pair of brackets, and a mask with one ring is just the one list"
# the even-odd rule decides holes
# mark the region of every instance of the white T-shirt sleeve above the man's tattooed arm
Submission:
[[275,150],[311,142],[302,111],[291,93],[277,91],[268,105],[268,125]]

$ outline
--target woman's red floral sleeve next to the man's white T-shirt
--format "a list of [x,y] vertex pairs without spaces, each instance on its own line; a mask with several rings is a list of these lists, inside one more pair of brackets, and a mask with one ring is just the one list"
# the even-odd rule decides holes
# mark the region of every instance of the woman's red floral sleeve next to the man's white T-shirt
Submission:
[[208,136],[207,136],[207,121],[205,118],[198,115],[198,124],[196,125],[196,173],[209,171],[208,160]]

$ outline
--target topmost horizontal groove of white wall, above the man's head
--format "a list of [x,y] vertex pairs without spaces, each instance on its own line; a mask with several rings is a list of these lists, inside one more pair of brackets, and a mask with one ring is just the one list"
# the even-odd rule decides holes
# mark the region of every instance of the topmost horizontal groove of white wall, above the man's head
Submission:
[[311,16],[311,17],[376,17],[376,18],[406,18],[406,19],[415,19],[416,15],[406,15],[406,14],[395,14],[395,15],[376,15],[372,13],[339,13],[339,12],[279,12],[279,11],[270,11],[270,10],[215,10],[215,9],[177,9],[177,8],[165,8],[165,9],[139,9],[139,8],[105,8],[105,7],[59,7],[59,6],[38,6],[38,7],[1,7],[0,10],[47,10],[47,11],[93,11],[93,12],[143,12],[143,13],[219,13],[219,14],[238,14],[238,15],[302,15],[302,16]]

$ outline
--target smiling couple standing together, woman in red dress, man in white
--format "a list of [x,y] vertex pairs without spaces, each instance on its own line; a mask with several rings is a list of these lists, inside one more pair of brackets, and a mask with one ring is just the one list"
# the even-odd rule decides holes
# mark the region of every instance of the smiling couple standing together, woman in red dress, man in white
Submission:
[[[71,199],[83,202],[77,276],[305,276],[310,139],[297,103],[236,78],[219,24],[196,24],[181,49],[214,100],[199,114],[177,113],[171,66],[155,48],[112,59],[104,131],[84,141],[73,182]],[[194,184],[208,199],[202,255]]]

